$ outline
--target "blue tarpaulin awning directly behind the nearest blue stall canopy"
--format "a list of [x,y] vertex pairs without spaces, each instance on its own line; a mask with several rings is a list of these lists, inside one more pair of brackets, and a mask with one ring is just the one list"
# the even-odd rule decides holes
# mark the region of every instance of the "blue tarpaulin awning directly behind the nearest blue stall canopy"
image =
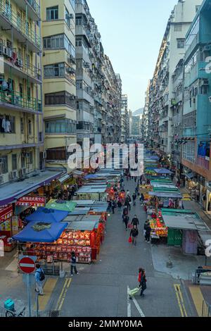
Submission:
[[27,216],[25,220],[27,222],[32,221],[49,221],[49,222],[60,222],[68,216],[68,211],[58,211],[56,209],[48,209],[44,207],[37,208],[30,216]]

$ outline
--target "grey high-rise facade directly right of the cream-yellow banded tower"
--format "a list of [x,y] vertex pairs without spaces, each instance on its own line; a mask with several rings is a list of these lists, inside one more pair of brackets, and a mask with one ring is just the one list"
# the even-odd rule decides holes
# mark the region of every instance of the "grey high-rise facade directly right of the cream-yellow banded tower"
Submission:
[[122,82],[104,54],[101,34],[86,0],[75,1],[77,142],[84,137],[106,144],[120,141]]

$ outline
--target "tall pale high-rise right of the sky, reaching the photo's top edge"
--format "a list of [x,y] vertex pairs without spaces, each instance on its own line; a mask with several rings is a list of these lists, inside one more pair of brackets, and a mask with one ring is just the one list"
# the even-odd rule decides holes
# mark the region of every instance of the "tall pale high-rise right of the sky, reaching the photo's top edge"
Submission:
[[150,87],[151,142],[162,153],[172,155],[172,74],[184,57],[185,36],[201,0],[178,1],[168,20]]

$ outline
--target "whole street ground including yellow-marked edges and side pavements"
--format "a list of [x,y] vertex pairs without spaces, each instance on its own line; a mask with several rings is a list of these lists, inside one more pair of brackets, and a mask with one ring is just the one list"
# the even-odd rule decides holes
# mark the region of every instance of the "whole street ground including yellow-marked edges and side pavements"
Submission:
[[[125,189],[129,189],[133,194],[134,180],[124,180],[124,183]],[[44,285],[45,295],[39,297],[39,316],[48,316],[52,310],[60,311],[60,316],[70,317],[201,316],[203,299],[210,301],[210,292],[207,287],[202,289],[190,285],[184,273],[189,261],[192,261],[191,266],[197,266],[197,261],[194,260],[196,257],[188,256],[186,260],[181,259],[178,266],[167,269],[165,265],[170,248],[165,245],[147,244],[143,239],[146,212],[140,206],[139,200],[136,201],[135,207],[132,206],[130,220],[135,214],[140,221],[137,246],[128,243],[129,230],[126,232],[124,228],[121,213],[117,209],[115,215],[110,213],[98,261],[91,265],[77,265],[79,275],[73,277],[70,277],[68,263],[64,263],[67,271],[65,278],[47,276]],[[172,248],[171,252],[177,254],[177,249]],[[146,296],[141,298],[136,295],[134,300],[129,300],[127,291],[128,288],[133,289],[137,286],[140,267],[146,269]],[[1,258],[1,306],[9,298],[13,299],[17,306],[27,305],[26,285],[23,283],[23,276],[17,274],[17,270],[14,252]],[[31,289],[32,310],[35,316],[37,296],[33,283]]]

